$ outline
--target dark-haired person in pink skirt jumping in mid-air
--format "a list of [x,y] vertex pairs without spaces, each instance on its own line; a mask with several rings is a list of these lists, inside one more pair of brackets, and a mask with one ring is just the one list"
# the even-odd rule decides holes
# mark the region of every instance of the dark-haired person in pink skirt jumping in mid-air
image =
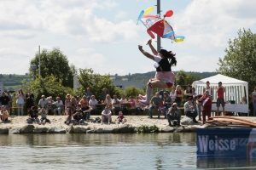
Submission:
[[173,54],[172,51],[168,52],[166,49],[160,49],[160,51],[157,52],[152,46],[151,39],[148,40],[148,45],[154,55],[144,51],[143,46],[141,45],[138,45],[138,48],[146,57],[148,57],[148,59],[153,59],[155,61],[154,67],[156,68],[156,73],[155,77],[150,78],[148,81],[146,95],[143,96],[139,94],[139,97],[142,99],[140,102],[143,105],[149,105],[153,88],[172,88],[175,81],[175,75],[172,72],[171,67],[177,65],[177,60],[174,57],[176,54]]

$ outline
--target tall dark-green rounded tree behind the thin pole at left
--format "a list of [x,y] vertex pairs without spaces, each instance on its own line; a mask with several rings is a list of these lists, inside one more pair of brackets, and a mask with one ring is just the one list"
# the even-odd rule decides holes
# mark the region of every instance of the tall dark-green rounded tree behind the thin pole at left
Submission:
[[[76,73],[76,68],[74,65],[68,65],[67,56],[59,48],[53,48],[52,51],[43,49],[40,54],[40,62],[41,77],[44,78],[53,75],[58,81],[61,81],[63,86],[73,88],[73,75]],[[30,61],[30,65],[39,65],[38,53]],[[38,69],[36,70],[37,73]],[[34,74],[31,66],[29,67],[29,74],[31,77]]]

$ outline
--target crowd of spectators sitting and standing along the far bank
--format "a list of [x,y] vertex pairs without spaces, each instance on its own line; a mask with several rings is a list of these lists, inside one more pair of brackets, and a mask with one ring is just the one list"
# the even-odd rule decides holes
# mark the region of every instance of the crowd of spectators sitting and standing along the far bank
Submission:
[[[55,116],[65,115],[65,123],[67,124],[84,124],[85,121],[90,120],[91,114],[96,115],[101,111],[98,109],[98,104],[100,104],[103,108],[101,117],[102,123],[106,122],[110,124],[112,122],[112,115],[118,116],[118,118],[114,120],[115,122],[125,123],[126,119],[124,115],[127,115],[127,105],[129,105],[129,111],[132,115],[139,115],[144,112],[145,108],[148,108],[148,118],[153,118],[153,111],[157,111],[158,118],[164,116],[170,126],[179,126],[181,109],[184,110],[185,116],[190,117],[195,123],[198,121],[205,123],[207,121],[207,117],[209,118],[211,116],[212,111],[212,91],[210,82],[207,82],[206,87],[203,89],[203,94],[196,94],[195,88],[192,88],[191,85],[188,85],[184,91],[177,85],[176,87],[172,87],[171,92],[166,91],[166,89],[156,92],[151,98],[149,106],[145,106],[139,102],[139,100],[143,98],[142,95],[138,95],[135,98],[129,96],[127,99],[125,95],[122,95],[120,99],[118,99],[118,96],[113,94],[112,99],[111,95],[108,94],[107,88],[102,89],[101,101],[96,100],[96,96],[90,91],[90,88],[86,89],[82,99],[79,99],[78,96],[67,94],[66,99],[62,101],[60,97],[56,97],[54,100],[51,96],[46,98],[42,95],[41,99],[38,101],[38,108],[34,105],[34,95],[30,89],[27,94],[24,94],[22,89],[19,89],[18,93],[15,94],[15,99],[18,116],[24,115],[23,107],[26,104],[26,111],[28,113],[26,122],[28,123],[38,122],[40,124],[45,124],[46,122],[49,122],[47,115],[51,114]],[[222,86],[222,83],[219,82],[218,87],[216,88],[216,93],[218,94],[217,108],[222,105],[223,112],[224,92],[225,89]],[[183,96],[185,102],[182,107]],[[256,88],[253,94],[251,94],[253,102],[256,101],[255,96]],[[13,96],[9,91],[7,93],[2,92],[0,97],[1,122],[8,121],[9,114],[12,114],[12,110],[9,110],[9,107],[12,107],[12,101]],[[241,104],[247,104],[245,97],[242,98]],[[255,114],[256,113],[253,111],[253,116]],[[196,120],[196,117],[198,117],[198,120]]]

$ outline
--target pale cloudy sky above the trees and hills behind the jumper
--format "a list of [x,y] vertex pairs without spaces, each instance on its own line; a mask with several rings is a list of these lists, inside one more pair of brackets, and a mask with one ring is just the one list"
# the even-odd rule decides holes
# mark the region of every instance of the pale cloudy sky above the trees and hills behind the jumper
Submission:
[[[254,0],[161,0],[161,14],[184,42],[161,39],[161,46],[177,55],[172,71],[216,71],[228,40],[240,28],[256,31]],[[100,74],[127,75],[154,71],[150,38],[137,17],[156,0],[0,0],[0,73],[25,74],[41,49],[58,47],[78,68]],[[156,14],[156,7],[150,14]],[[156,48],[156,42],[154,42]],[[241,56],[242,57],[242,56]]]

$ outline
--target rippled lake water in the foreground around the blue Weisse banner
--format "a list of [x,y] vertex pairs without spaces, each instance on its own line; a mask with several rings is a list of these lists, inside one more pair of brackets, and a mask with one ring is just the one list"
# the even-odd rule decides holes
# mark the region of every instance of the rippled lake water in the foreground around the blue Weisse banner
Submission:
[[246,160],[197,160],[196,133],[1,134],[0,169],[250,168]]

